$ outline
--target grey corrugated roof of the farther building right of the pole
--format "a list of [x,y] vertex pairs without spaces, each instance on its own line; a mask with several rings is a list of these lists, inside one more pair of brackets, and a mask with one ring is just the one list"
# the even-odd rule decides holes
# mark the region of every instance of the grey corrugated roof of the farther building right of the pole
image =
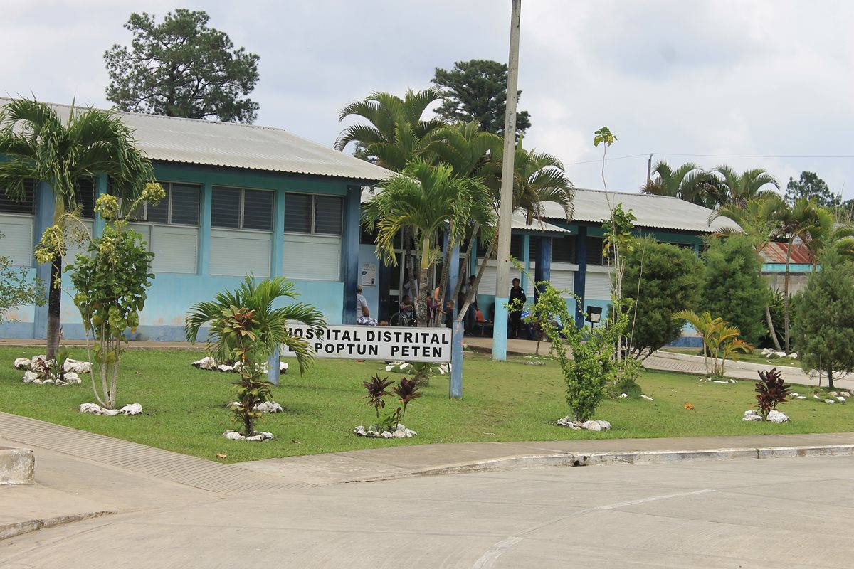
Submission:
[[[623,194],[608,192],[611,204],[623,204],[623,210],[631,210],[637,221],[635,225],[649,229],[674,229],[697,233],[715,233],[722,229],[740,230],[729,218],[716,218],[709,224],[712,210],[689,201],[664,195]],[[554,203],[545,204],[545,217],[566,219],[564,210]],[[598,189],[576,189],[575,213],[572,221],[600,224],[611,217],[605,192]]]

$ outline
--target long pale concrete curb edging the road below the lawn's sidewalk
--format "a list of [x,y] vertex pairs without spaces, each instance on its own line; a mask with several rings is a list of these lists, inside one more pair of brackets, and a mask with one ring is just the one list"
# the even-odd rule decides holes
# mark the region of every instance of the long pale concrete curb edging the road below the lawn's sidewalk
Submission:
[[437,476],[483,472],[507,472],[536,467],[585,467],[605,464],[668,464],[688,461],[759,460],[766,458],[796,458],[803,456],[854,455],[854,444],[821,444],[811,446],[746,447],[705,450],[626,450],[616,452],[557,453],[549,455],[506,456],[487,461],[448,464],[441,467],[419,468],[397,473],[382,474],[342,482],[381,482]]

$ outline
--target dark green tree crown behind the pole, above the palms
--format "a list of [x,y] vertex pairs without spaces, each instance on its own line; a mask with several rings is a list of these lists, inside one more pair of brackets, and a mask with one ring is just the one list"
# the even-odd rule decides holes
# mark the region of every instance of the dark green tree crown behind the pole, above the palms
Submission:
[[[457,61],[447,71],[436,67],[433,83],[442,88],[442,104],[436,109],[450,123],[477,121],[481,129],[504,136],[507,107],[507,66],[489,60]],[[522,91],[518,91],[518,96]],[[517,111],[517,136],[530,128],[528,111]]]

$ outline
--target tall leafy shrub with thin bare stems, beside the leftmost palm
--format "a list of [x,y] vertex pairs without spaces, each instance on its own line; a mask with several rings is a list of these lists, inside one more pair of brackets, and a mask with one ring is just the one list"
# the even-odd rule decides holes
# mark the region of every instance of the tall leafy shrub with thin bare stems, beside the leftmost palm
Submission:
[[[157,203],[166,193],[159,183],[150,183],[141,200]],[[79,254],[71,272],[77,290],[74,304],[83,318],[86,335],[95,339],[93,363],[97,364],[100,390],[94,371],[92,391],[99,404],[113,409],[122,343],[127,343],[125,331],[139,325],[139,312],[145,305],[146,291],[155,276],[149,272],[154,253],[149,253],[142,235],[126,229],[126,219],[120,218],[119,200],[114,195],[97,199],[95,211],[106,220],[102,235],[93,239],[88,251]]]

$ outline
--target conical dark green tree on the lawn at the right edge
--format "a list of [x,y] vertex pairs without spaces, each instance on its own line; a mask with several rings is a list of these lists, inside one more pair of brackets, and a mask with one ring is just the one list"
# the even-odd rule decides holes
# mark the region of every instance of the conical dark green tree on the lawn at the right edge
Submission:
[[820,261],[793,299],[793,338],[801,367],[827,374],[833,388],[834,378],[854,371],[854,268],[832,249]]

